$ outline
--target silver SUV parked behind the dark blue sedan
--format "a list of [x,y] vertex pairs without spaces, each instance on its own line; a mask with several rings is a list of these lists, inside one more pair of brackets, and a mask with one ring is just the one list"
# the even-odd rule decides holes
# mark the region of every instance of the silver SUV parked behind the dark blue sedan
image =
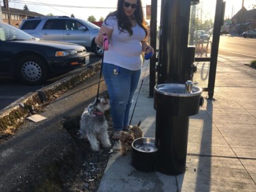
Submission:
[[23,20],[20,29],[43,40],[76,43],[98,56],[103,54],[103,49],[94,43],[99,27],[89,21],[68,16],[31,17]]

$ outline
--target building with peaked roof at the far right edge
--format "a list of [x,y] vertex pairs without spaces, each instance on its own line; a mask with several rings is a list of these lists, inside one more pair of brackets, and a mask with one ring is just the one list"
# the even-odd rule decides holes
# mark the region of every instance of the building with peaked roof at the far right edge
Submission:
[[242,7],[231,20],[230,34],[242,34],[249,29],[256,29],[256,9],[247,10]]

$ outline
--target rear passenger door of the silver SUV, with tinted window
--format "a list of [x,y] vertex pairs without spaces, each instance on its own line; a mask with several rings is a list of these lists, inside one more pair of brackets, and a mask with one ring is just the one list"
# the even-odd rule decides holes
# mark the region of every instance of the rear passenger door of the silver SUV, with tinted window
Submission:
[[64,40],[65,20],[49,19],[44,23],[41,37],[43,40],[49,41],[65,41]]

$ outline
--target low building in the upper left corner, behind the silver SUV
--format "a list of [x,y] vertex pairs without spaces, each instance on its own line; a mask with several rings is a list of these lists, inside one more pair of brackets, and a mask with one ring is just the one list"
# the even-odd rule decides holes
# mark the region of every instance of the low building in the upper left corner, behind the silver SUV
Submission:
[[7,0],[4,0],[4,6],[1,7],[2,21],[4,23],[9,23],[8,8],[9,8],[9,13],[10,13],[10,24],[15,27],[19,27],[22,20],[26,20],[27,18],[30,18],[31,16],[44,16],[44,15],[41,15],[40,13],[30,12],[29,10],[10,8],[7,3]]

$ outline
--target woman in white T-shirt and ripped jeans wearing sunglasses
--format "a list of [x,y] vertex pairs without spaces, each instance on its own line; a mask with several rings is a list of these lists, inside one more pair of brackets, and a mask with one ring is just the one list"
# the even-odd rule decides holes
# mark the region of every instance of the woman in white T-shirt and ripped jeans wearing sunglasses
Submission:
[[141,0],[118,0],[118,8],[105,19],[95,43],[102,46],[102,34],[110,40],[104,52],[102,73],[110,96],[110,113],[119,140],[121,130],[129,128],[132,98],[138,87],[141,71],[141,52],[153,52],[146,41],[148,30],[143,17]]

